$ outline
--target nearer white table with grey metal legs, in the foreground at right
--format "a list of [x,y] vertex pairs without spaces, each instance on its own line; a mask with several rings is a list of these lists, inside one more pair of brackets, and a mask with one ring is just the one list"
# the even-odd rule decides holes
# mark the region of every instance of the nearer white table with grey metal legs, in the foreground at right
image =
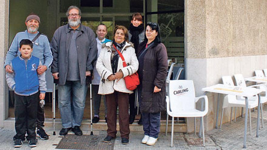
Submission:
[[218,128],[218,112],[219,112],[219,94],[227,95],[237,95],[245,97],[246,103],[246,113],[245,113],[245,129],[244,129],[244,144],[243,148],[246,148],[246,139],[247,139],[247,123],[248,123],[248,97],[258,95],[258,119],[257,119],[257,133],[256,137],[259,137],[259,110],[260,110],[260,92],[261,89],[249,88],[249,87],[239,87],[239,86],[229,86],[224,84],[217,84],[210,87],[202,88],[202,91],[218,93],[218,102],[217,102],[217,113],[216,113],[216,126]]

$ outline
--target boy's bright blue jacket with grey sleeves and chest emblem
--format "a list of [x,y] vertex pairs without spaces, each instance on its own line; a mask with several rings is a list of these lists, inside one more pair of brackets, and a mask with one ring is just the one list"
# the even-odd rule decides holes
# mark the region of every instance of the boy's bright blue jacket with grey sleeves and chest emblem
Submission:
[[42,65],[39,58],[31,56],[23,59],[21,55],[15,57],[11,62],[13,73],[6,73],[6,81],[16,94],[29,96],[46,92],[46,75],[37,74],[37,68]]

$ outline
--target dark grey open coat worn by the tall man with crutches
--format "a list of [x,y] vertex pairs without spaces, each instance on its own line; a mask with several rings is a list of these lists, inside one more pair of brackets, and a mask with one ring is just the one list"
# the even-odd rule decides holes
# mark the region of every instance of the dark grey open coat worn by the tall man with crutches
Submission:
[[[52,38],[53,63],[51,72],[59,72],[59,85],[66,83],[68,72],[68,51],[71,40],[69,25],[59,27]],[[85,84],[86,71],[93,71],[93,63],[97,59],[97,42],[93,30],[80,24],[76,38],[78,53],[79,74],[81,84]]]

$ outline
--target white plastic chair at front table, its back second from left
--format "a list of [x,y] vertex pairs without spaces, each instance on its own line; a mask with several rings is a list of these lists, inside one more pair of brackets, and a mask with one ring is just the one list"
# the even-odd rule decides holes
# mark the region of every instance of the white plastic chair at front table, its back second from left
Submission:
[[[237,86],[247,87],[245,79],[244,79],[242,74],[235,74],[234,77],[235,77],[235,81],[236,81]],[[248,87],[254,87],[255,88],[255,87],[261,87],[261,86],[262,85],[251,85]],[[266,88],[264,91],[265,91],[265,94],[267,94]],[[244,97],[238,97],[238,99],[245,100]],[[248,97],[248,100],[255,100],[258,103],[258,96]],[[262,104],[265,102],[267,102],[267,96],[261,96],[261,118],[262,118]],[[250,113],[250,109],[249,109],[249,113]],[[250,114],[249,114],[249,116],[250,116]],[[263,128],[263,118],[261,120],[262,120],[262,128]],[[251,122],[250,122],[250,124],[251,124]]]

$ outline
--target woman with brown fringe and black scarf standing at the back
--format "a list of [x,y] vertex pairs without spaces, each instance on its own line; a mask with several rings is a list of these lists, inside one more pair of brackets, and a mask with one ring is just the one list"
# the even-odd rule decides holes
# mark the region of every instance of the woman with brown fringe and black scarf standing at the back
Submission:
[[[145,30],[144,24],[142,21],[142,15],[137,12],[132,15],[132,20],[129,28],[129,41],[134,43],[135,53],[137,53],[138,45],[144,41]],[[130,116],[129,123],[132,124],[136,115],[135,108],[135,91],[129,96],[129,105],[130,105]],[[142,124],[142,119],[138,121],[138,124]]]

